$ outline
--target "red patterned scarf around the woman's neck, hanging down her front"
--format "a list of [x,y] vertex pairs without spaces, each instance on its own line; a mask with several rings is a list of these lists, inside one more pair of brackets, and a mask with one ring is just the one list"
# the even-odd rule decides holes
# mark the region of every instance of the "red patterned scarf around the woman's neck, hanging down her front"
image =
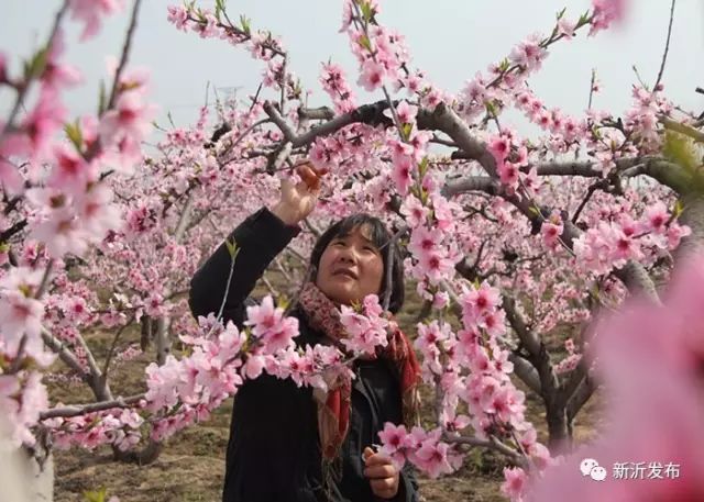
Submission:
[[[340,311],[312,282],[304,286],[298,303],[308,317],[310,327],[324,335],[342,348],[340,341],[346,336],[340,322]],[[404,424],[408,427],[418,423],[420,367],[416,354],[400,330],[389,334],[388,345],[380,347],[376,357],[388,359],[396,369],[400,383]],[[323,458],[334,458],[344,442],[350,424],[352,381],[343,378],[330,388],[327,394],[317,394],[318,433]]]

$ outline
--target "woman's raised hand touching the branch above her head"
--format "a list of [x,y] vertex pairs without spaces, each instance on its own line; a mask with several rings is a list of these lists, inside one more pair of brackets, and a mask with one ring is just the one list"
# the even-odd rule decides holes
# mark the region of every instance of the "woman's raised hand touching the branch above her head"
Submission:
[[280,221],[287,225],[295,225],[314,210],[320,192],[320,178],[326,171],[318,170],[306,163],[297,167],[301,181],[294,185],[288,179],[282,180],[282,196],[278,203],[272,209]]

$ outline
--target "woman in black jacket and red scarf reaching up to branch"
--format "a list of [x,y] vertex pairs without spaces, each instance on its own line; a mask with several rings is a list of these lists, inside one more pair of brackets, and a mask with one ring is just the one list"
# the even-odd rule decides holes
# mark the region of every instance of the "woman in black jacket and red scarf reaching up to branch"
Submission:
[[[239,253],[226,322],[242,325],[246,297],[316,205],[318,172],[310,166],[298,172],[304,181],[283,181],[278,204],[257,211],[231,235]],[[384,294],[394,247],[386,245],[389,238],[383,223],[369,215],[344,219],[319,238],[310,258],[310,281],[290,312],[299,320],[298,346],[339,342],[344,332],[337,308],[371,293]],[[193,278],[194,315],[218,312],[230,267],[223,244]],[[404,301],[399,256],[393,259],[391,282],[389,311],[395,313]],[[417,411],[418,364],[400,332],[377,356],[358,360],[358,378],[323,397],[268,375],[248,380],[233,406],[223,502],[417,500],[410,470],[399,472],[372,445],[380,443],[384,423],[409,422]]]

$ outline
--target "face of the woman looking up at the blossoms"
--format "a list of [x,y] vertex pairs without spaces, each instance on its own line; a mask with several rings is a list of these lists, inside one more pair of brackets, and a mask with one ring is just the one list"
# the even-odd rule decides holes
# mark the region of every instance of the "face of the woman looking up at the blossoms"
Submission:
[[382,290],[384,259],[369,236],[367,226],[358,226],[322,252],[316,285],[333,302],[349,305]]

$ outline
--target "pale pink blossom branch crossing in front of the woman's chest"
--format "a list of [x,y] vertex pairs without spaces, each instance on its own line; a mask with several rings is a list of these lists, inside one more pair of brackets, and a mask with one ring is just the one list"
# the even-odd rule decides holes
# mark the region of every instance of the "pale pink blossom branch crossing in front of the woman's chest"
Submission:
[[249,327],[240,331],[231,322],[222,326],[212,314],[201,317],[200,336],[182,337],[193,347],[190,356],[178,360],[169,355],[163,366],[147,366],[145,409],[155,414],[154,438],[207,420],[244,380],[264,371],[323,391],[342,373],[352,376],[336,347],[297,348],[293,338],[298,335],[298,320],[284,316],[268,295],[260,305],[248,308],[244,324]]

